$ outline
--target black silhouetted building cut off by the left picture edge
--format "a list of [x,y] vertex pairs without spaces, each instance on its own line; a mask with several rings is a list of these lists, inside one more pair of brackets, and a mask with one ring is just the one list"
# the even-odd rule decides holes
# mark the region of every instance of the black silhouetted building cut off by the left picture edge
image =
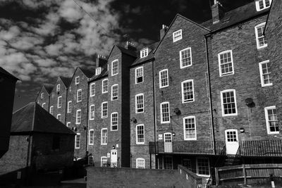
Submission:
[[13,98],[18,78],[8,73],[0,67],[0,87],[1,87],[1,132],[0,132],[0,158],[8,151],[10,139],[11,122],[13,115]]

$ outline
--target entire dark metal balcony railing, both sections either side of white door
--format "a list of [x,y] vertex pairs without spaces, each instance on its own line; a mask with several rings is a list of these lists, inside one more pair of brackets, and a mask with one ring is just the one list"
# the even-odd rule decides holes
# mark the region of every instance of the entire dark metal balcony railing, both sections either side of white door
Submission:
[[[157,142],[156,146],[155,142],[149,142],[149,153],[226,155],[225,141],[216,141],[214,144],[215,153],[212,141]],[[282,139],[241,141],[236,156],[281,157]]]

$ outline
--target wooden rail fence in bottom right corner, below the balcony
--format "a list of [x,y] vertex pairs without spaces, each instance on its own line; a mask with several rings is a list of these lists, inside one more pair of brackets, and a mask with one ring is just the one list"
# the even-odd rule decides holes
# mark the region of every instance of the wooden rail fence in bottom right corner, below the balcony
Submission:
[[252,165],[233,165],[215,168],[216,185],[220,182],[228,180],[244,180],[247,184],[247,179],[269,178],[282,176],[282,164],[252,164]]

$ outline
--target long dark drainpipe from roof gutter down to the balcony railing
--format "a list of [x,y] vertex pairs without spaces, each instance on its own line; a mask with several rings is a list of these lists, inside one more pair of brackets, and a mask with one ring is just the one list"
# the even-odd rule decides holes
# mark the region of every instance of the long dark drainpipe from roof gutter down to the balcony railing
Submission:
[[207,58],[207,75],[208,75],[208,80],[209,80],[209,110],[210,110],[210,115],[211,115],[211,129],[212,129],[212,144],[214,146],[214,155],[216,154],[216,141],[214,139],[214,113],[212,111],[212,86],[211,86],[211,73],[209,71],[209,48],[207,44],[207,37],[210,37],[210,35],[205,35],[204,36],[204,42],[206,45],[206,58]]

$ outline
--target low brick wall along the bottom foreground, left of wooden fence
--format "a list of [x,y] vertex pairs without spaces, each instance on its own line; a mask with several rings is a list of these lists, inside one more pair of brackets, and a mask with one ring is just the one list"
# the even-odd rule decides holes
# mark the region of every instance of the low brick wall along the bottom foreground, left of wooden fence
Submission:
[[[180,174],[181,169],[181,174]],[[187,178],[188,177],[188,178]],[[178,170],[137,168],[87,168],[87,188],[90,187],[191,187],[203,184],[183,166]]]

